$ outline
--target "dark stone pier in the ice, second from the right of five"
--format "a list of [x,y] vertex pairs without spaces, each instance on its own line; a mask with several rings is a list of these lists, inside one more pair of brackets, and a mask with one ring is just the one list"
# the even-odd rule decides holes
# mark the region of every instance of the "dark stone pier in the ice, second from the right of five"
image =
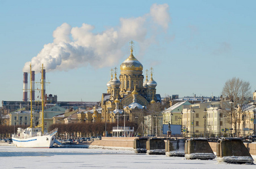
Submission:
[[186,159],[214,159],[211,146],[207,139],[188,139],[185,143]]

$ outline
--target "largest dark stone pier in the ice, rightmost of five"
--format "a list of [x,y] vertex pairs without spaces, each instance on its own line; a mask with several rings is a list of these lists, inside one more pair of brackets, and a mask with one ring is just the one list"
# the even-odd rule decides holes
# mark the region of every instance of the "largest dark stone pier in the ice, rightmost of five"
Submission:
[[253,164],[253,158],[242,139],[222,138],[217,144],[217,161],[227,163]]

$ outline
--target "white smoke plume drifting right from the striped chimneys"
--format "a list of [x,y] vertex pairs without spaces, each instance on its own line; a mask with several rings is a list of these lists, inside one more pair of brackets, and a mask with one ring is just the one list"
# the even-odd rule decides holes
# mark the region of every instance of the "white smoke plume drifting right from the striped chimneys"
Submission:
[[94,68],[112,66],[123,56],[122,47],[129,41],[138,43],[143,50],[154,43],[157,36],[152,29],[159,26],[166,30],[171,21],[167,4],[154,4],[150,14],[136,18],[120,18],[120,25],[109,28],[101,33],[93,33],[94,26],[83,24],[72,28],[63,23],[53,32],[54,41],[25,63],[23,72],[28,72],[29,64],[39,72],[42,63],[47,72],[52,70],[69,70],[92,65]]

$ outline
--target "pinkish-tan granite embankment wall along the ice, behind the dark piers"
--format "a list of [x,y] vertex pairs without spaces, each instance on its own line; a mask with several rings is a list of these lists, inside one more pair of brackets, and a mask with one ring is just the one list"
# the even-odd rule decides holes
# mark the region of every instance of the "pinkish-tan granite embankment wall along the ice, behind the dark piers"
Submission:
[[[102,137],[102,140],[87,141],[89,145],[133,148],[134,140],[138,137]],[[217,143],[209,142],[213,152],[217,152]],[[256,155],[256,143],[244,143],[251,155]]]

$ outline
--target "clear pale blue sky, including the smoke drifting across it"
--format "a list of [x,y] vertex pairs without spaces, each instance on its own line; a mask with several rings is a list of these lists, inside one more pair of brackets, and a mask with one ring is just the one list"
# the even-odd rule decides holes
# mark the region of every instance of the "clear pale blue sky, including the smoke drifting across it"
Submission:
[[[153,66],[162,97],[219,96],[232,77],[249,81],[253,92],[255,5],[0,1],[0,100],[22,100],[23,68],[34,57],[37,64],[47,60],[47,94],[58,95],[59,101],[99,101],[110,69],[116,66],[119,75],[120,64],[129,56],[129,41],[135,42],[134,56],[144,65],[144,73]],[[49,61],[53,57],[56,65]]]

